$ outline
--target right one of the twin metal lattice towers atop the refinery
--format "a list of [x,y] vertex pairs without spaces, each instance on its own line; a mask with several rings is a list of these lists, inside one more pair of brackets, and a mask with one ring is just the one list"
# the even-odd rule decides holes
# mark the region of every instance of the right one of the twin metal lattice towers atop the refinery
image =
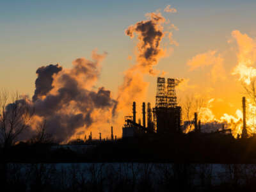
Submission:
[[177,97],[175,93],[175,79],[167,79],[166,85],[167,108],[175,108],[177,106]]

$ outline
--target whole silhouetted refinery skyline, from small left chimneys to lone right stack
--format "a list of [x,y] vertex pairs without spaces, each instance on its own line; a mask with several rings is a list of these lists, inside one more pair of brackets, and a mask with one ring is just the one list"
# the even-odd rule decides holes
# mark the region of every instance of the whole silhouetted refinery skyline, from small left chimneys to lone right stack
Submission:
[[[134,101],[131,106],[132,115],[124,117],[124,125],[122,127],[122,138],[134,138],[140,136],[177,136],[182,134],[186,126],[192,126],[190,133],[196,135],[211,135],[211,134],[225,134],[232,136],[232,129],[228,129],[228,125],[216,122],[212,125],[201,124],[198,119],[198,114],[194,114],[191,121],[184,121],[182,124],[182,108],[177,104],[177,95],[175,86],[177,81],[173,78],[165,79],[164,77],[157,77],[156,88],[156,106],[152,108],[150,102],[142,102],[138,107]],[[237,134],[237,138],[248,138],[246,131],[246,99],[243,97],[243,127],[241,135]],[[142,118],[138,118],[138,113],[142,114]],[[214,126],[214,127],[212,127]],[[213,128],[213,129],[212,129]],[[188,132],[186,132],[188,133]],[[256,135],[256,134],[255,134]],[[102,139],[101,132],[99,132],[99,141],[116,141],[116,135],[113,134],[113,127],[111,126],[111,136]],[[84,141],[92,143],[92,132]]]

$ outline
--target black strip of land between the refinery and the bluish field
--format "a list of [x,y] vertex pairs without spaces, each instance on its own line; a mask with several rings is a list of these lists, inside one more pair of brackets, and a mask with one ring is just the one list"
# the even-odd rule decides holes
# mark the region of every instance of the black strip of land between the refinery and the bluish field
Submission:
[[[145,136],[114,141],[73,141],[72,145],[19,143],[1,150],[8,163],[256,163],[256,138],[225,134]],[[76,150],[83,148],[83,150]]]

